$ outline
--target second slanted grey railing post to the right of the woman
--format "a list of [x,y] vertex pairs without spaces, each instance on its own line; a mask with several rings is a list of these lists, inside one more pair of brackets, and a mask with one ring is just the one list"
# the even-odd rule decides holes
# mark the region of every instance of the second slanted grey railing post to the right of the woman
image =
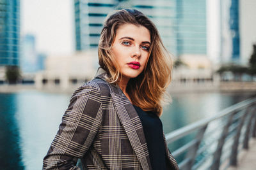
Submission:
[[227,124],[223,128],[223,131],[221,133],[221,136],[220,136],[220,139],[219,139],[219,142],[218,142],[218,146],[216,148],[216,151],[214,152],[211,170],[218,170],[220,168],[220,158],[221,158],[222,148],[223,148],[223,145],[225,143],[225,138],[227,137],[227,134],[228,134],[228,128],[232,124],[232,120],[233,120],[233,117],[234,117],[235,113],[236,112],[231,113],[229,115],[229,118],[227,120]]

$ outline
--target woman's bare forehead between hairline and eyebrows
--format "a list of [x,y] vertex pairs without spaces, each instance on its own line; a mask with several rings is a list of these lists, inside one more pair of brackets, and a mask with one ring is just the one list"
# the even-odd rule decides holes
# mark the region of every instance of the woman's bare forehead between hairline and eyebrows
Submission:
[[116,30],[116,38],[130,37],[135,40],[150,42],[150,32],[148,29],[141,25],[124,24]]

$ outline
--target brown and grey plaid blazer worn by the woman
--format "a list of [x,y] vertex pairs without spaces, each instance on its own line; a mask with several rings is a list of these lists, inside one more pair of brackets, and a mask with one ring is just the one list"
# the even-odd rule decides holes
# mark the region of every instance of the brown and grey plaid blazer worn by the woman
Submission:
[[[106,71],[74,92],[43,169],[152,169],[140,118]],[[164,135],[164,134],[163,134]],[[166,141],[166,166],[179,169]]]

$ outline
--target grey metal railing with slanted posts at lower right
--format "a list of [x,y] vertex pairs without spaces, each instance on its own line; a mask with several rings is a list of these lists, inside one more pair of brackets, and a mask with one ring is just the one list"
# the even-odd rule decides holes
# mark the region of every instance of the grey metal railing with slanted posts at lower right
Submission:
[[[256,138],[256,97],[246,99],[205,118],[166,134],[180,169],[226,169],[237,165],[237,154]],[[188,141],[188,142],[187,142]]]

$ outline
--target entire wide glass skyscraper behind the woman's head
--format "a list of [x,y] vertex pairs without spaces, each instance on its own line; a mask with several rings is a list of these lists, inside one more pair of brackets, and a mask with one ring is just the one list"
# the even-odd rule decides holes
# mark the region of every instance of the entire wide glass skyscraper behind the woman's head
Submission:
[[135,8],[153,20],[174,55],[207,53],[205,0],[74,0],[76,50],[97,47],[104,19],[120,8]]

